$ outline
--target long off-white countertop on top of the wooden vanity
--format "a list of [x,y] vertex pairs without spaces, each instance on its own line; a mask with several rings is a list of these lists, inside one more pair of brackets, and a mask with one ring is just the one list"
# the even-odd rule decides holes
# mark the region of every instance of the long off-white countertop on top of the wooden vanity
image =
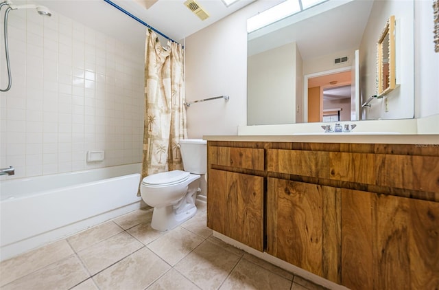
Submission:
[[204,135],[207,141],[414,144],[439,147],[439,135],[321,133],[312,135]]

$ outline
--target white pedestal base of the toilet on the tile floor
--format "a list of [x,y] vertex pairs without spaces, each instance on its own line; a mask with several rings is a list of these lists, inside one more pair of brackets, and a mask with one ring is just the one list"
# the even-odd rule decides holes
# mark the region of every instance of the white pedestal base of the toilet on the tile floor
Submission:
[[172,230],[177,225],[191,219],[197,213],[197,207],[187,203],[184,208],[174,210],[174,205],[165,206],[163,208],[154,208],[152,212],[151,227],[158,231]]

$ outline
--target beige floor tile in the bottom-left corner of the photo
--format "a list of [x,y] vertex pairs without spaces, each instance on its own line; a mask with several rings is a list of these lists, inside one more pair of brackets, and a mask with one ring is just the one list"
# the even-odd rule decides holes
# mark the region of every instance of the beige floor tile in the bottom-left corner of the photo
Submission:
[[86,278],[88,278],[88,273],[82,266],[81,261],[76,255],[72,255],[15,280],[1,289],[69,289],[86,280]]

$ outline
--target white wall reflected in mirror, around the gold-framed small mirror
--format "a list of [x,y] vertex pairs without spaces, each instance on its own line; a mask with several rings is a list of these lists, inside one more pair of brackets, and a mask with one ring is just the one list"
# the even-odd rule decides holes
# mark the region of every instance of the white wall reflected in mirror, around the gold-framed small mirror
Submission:
[[[418,0],[416,0],[418,1]],[[415,2],[416,2],[415,1]],[[363,115],[368,120],[403,119],[414,117],[414,5],[412,1],[375,1],[370,12],[368,25],[359,47],[360,65],[360,103],[377,94],[377,41],[385,23],[391,15],[399,26],[396,35],[396,74],[399,74],[399,87],[385,98],[373,100]],[[416,19],[418,20],[418,19]],[[388,102],[386,108],[385,102]]]

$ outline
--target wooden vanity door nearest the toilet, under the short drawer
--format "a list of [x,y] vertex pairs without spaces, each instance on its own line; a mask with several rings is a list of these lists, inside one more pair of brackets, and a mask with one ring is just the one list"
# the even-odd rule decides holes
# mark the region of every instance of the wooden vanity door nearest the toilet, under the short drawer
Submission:
[[263,251],[263,177],[211,169],[207,226]]

